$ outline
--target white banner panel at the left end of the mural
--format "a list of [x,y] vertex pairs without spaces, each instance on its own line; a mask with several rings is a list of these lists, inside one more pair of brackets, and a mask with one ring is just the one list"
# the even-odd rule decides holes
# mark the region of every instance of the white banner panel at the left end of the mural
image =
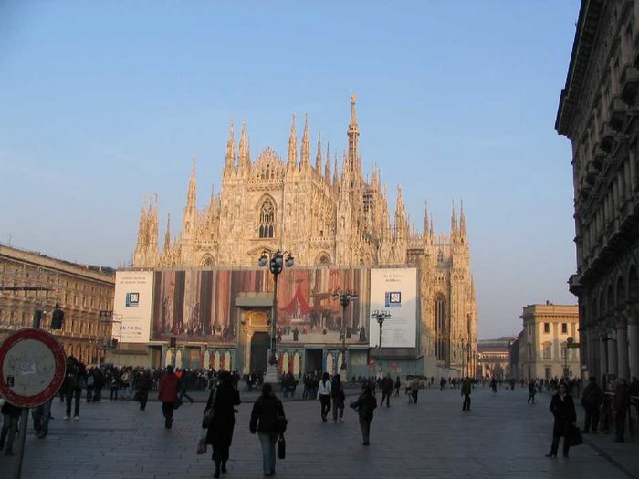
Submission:
[[152,271],[117,271],[113,338],[125,343],[149,342],[152,301]]

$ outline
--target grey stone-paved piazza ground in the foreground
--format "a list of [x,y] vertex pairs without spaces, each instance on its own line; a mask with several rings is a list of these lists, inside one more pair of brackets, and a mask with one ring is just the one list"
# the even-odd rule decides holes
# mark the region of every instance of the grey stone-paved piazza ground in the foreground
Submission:
[[[195,393],[202,400],[203,393]],[[392,407],[378,408],[372,422],[371,445],[361,445],[354,411],[344,424],[322,423],[319,401],[287,401],[287,459],[279,461],[277,477],[639,477],[639,446],[612,443],[610,434],[585,436],[587,443],[571,449],[569,459],[546,458],[550,448],[549,394],[526,403],[527,392],[477,387],[473,411],[461,411],[459,390],[420,391],[419,403],[402,396]],[[228,479],[261,477],[257,436],[248,432],[255,394],[236,414]],[[378,401],[380,395],[377,396]],[[347,398],[351,401],[351,398]],[[26,478],[204,478],[213,476],[209,453],[195,447],[204,403],[184,404],[173,429],[164,430],[158,402],[147,411],[137,403],[82,403],[79,422],[63,421],[58,399],[45,440],[31,431],[26,439]],[[578,408],[581,409],[581,408]],[[581,421],[581,419],[580,419]],[[31,426],[31,421],[29,421]],[[12,458],[0,455],[0,476],[7,477]]]

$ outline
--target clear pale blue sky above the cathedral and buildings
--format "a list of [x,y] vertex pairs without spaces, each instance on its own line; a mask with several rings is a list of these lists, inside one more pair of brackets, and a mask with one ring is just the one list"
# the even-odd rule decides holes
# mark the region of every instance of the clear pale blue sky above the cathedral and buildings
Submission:
[[[450,230],[464,201],[479,338],[576,304],[570,142],[554,121],[577,0],[0,1],[0,243],[131,263],[143,195],[219,191],[229,123],[286,157],[291,115]],[[314,146],[313,146],[314,151]],[[313,152],[314,156],[314,152]]]

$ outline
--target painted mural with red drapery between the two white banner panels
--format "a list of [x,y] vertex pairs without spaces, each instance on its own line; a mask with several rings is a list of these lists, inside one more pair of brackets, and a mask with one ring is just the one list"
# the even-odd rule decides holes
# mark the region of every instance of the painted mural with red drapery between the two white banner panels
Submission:
[[[278,342],[368,344],[368,321],[360,311],[368,307],[370,271],[367,269],[285,269],[278,276]],[[257,270],[165,270],[154,279],[152,339],[207,344],[236,343],[237,328],[247,309],[236,298],[274,290],[273,275]],[[360,298],[343,309],[332,298],[337,289],[354,289]],[[270,308],[264,307],[270,315]],[[251,313],[254,313],[252,310]]]

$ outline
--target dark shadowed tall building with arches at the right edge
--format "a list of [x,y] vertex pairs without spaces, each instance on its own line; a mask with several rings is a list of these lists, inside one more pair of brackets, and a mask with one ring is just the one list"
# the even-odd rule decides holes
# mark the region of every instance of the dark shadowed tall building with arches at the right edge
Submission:
[[639,377],[639,2],[581,3],[555,129],[570,139],[581,361]]

